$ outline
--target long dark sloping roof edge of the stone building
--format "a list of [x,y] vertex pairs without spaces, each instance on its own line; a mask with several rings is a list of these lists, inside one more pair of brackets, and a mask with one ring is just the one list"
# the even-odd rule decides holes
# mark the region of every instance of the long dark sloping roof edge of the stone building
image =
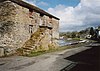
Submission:
[[36,6],[34,6],[34,5],[31,5],[31,4],[29,4],[29,3],[25,2],[25,1],[22,1],[22,0],[10,0],[10,1],[12,1],[12,2],[14,2],[14,3],[17,3],[17,4],[19,4],[19,5],[23,6],[23,7],[26,7],[26,8],[28,8],[28,9],[35,10],[36,12],[38,12],[38,13],[40,13],[40,14],[47,15],[47,16],[49,16],[49,17],[53,17],[53,18],[55,18],[55,19],[57,19],[57,20],[60,20],[59,18],[57,18],[57,17],[55,17],[55,16],[53,16],[53,15],[47,13],[46,11],[44,11],[44,10],[42,10],[42,9],[40,9],[40,8],[38,8],[38,7],[36,7]]

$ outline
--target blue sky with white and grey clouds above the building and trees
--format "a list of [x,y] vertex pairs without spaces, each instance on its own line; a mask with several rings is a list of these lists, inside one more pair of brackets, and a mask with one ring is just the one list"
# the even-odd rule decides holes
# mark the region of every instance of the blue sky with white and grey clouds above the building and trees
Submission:
[[25,0],[60,18],[59,31],[100,26],[100,0]]

